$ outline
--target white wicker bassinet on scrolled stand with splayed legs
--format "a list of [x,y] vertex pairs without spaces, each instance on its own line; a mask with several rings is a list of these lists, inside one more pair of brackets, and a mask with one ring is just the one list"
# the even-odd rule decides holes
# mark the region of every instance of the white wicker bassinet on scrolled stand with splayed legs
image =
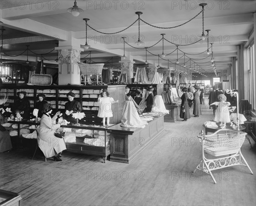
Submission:
[[[211,171],[221,168],[234,165],[244,165],[247,166],[250,173],[253,174],[253,171],[250,169],[241,153],[241,146],[244,143],[246,134],[247,133],[241,131],[221,129],[213,134],[205,135],[204,131],[202,130],[198,136],[199,141],[201,142],[202,159],[195,171],[198,169],[210,174],[214,183],[216,183],[216,180]],[[217,158],[207,159],[204,156],[204,152]],[[219,157],[224,155],[229,156]]]

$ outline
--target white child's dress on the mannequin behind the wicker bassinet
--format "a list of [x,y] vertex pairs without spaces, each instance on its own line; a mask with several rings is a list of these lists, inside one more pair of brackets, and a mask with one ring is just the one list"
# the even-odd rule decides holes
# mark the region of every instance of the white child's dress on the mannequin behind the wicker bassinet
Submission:
[[214,102],[216,106],[218,106],[216,112],[215,112],[215,122],[223,122],[227,123],[230,122],[230,113],[228,110],[228,106],[230,105],[230,102]]

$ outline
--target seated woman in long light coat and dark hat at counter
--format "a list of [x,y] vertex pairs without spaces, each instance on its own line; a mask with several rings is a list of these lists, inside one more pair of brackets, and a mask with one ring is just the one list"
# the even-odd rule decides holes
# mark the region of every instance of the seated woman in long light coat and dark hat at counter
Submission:
[[42,108],[42,118],[40,121],[40,127],[38,131],[38,147],[44,153],[46,158],[53,157],[54,161],[62,161],[60,153],[67,149],[64,139],[58,138],[54,135],[56,129],[60,128],[64,122],[55,124],[55,120],[61,113],[58,111],[52,118],[52,105],[44,104]]

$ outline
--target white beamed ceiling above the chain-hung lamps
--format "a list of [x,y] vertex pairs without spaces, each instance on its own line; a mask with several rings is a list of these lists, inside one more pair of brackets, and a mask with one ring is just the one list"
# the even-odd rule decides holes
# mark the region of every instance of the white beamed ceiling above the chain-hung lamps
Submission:
[[[100,32],[117,32],[130,26],[138,16],[135,12],[143,12],[142,20],[160,27],[180,25],[201,11],[199,3],[208,3],[204,10],[204,29],[211,29],[209,42],[213,42],[213,55],[217,70],[228,70],[232,57],[237,56],[237,45],[248,40],[253,30],[253,12],[256,12],[256,0],[131,0],[131,1],[85,1],[77,0],[77,6],[84,12],[73,17],[67,12],[74,5],[74,0],[5,0],[0,3],[1,27],[6,29],[3,33],[3,49],[8,55],[18,55],[30,45],[35,53],[47,53],[54,49],[58,41],[67,41],[68,34],[79,39],[81,45],[85,43],[85,21]],[[138,38],[138,22],[116,35],[102,35],[88,27],[88,44],[91,46],[91,58],[95,62],[106,62],[111,56],[111,64],[118,67],[123,55],[121,37],[128,37],[126,41],[134,47]],[[174,29],[157,29],[140,21],[140,35],[145,42],[140,48],[156,44],[164,35],[168,41],[175,44],[191,44],[202,34],[202,14],[194,20]],[[207,34],[207,32],[205,32]],[[34,36],[34,37],[33,37]],[[33,38],[32,38],[33,37]],[[90,40],[89,40],[90,39]],[[40,40],[40,41],[39,41]],[[107,42],[108,41],[108,42]],[[209,45],[210,46],[210,45]],[[176,49],[174,44],[164,41],[164,53]],[[179,46],[179,49],[189,54],[198,54],[207,50],[207,42],[201,41],[189,46]],[[211,50],[211,49],[210,49]],[[162,41],[148,49],[154,55],[147,54],[149,66],[158,65],[158,54],[162,54]],[[81,58],[88,55],[88,50],[81,53]],[[136,65],[144,66],[145,50],[135,49],[125,44],[125,55],[131,55]],[[155,56],[156,55],[156,56]],[[179,58],[183,55],[178,52]],[[29,61],[36,61],[36,56],[29,52]],[[185,62],[189,66],[189,58],[196,61],[205,71],[212,71],[210,57],[203,53],[200,55],[187,55]],[[26,61],[26,52],[17,57],[4,55],[5,61]],[[56,51],[45,55],[45,58],[54,60]],[[173,63],[177,58],[175,51],[164,59],[160,58],[160,66],[167,68],[169,59]],[[84,59],[83,59],[84,60]],[[55,62],[45,61],[48,64]],[[180,59],[181,65],[184,58]],[[174,67],[174,64],[169,64]],[[187,67],[186,67],[187,68]]]

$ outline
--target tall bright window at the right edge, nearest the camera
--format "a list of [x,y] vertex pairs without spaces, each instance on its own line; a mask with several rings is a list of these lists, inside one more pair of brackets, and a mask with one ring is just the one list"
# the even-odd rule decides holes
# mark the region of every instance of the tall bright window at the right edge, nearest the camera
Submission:
[[252,110],[256,110],[256,89],[255,89],[255,51],[254,43],[247,47],[247,77],[248,77],[248,101],[252,105]]

